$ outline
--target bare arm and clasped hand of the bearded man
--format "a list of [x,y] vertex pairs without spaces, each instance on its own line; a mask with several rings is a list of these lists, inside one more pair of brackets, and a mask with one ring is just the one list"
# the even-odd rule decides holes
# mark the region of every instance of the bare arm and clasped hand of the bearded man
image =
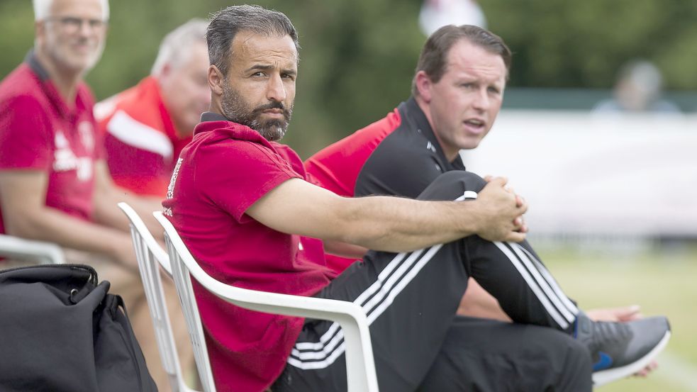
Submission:
[[416,250],[473,234],[492,241],[522,241],[525,228],[519,218],[527,206],[503,185],[504,179],[492,180],[474,201],[416,201],[389,196],[344,198],[290,179],[246,213],[281,233],[388,252]]

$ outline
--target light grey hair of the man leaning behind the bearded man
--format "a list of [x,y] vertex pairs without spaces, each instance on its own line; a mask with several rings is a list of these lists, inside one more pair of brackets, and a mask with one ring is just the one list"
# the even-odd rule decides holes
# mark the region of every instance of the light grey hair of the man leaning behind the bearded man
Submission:
[[159,77],[165,65],[172,67],[183,65],[191,55],[193,45],[196,43],[206,45],[206,28],[208,28],[207,21],[194,18],[165,35],[150,74]]

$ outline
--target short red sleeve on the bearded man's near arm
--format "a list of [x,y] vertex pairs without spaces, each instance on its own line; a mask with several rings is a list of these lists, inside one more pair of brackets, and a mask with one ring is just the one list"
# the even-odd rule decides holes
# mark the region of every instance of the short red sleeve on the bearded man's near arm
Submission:
[[196,156],[196,187],[238,222],[247,208],[293,178],[303,177],[274,150],[254,142],[218,142]]

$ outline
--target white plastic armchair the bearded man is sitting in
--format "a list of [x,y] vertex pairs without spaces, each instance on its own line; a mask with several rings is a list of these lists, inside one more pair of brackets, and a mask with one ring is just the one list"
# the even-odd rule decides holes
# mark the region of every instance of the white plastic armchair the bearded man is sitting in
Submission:
[[172,262],[174,285],[177,287],[186,326],[189,328],[191,342],[194,345],[194,357],[204,391],[216,392],[216,387],[213,383],[211,364],[208,361],[208,349],[206,349],[206,340],[203,337],[201,316],[191,286],[191,276],[218,298],[242,308],[266,313],[332,320],[338,323],[343,330],[346,343],[348,392],[379,391],[368,322],[360,306],[347,301],[267,293],[223,284],[201,269],[182,242],[177,230],[165,218],[165,215],[162,215],[162,212],[158,211],[153,215],[165,228],[165,244],[169,259]]

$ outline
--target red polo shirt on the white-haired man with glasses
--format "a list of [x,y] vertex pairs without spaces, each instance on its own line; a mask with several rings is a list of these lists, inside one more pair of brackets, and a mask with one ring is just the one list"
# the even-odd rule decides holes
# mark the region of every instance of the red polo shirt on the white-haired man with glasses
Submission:
[[93,210],[94,162],[103,155],[93,105],[81,83],[68,106],[33,55],[0,83],[0,170],[45,172],[46,206],[85,220]]

